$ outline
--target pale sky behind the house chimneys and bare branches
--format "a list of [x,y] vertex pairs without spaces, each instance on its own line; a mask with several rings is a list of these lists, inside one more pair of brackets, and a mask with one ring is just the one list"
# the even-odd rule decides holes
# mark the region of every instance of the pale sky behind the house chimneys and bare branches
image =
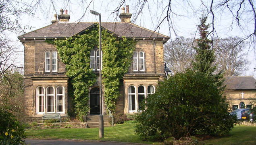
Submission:
[[[26,0],[31,1],[31,3],[35,3],[37,0]],[[80,3],[79,0],[70,0],[69,5],[63,2],[64,0],[54,0],[56,2],[54,4],[56,11],[53,9],[51,3],[49,0],[42,0],[41,1],[41,7],[37,8],[33,16],[27,16],[24,15],[21,17],[21,22],[23,25],[29,25],[32,26],[31,30],[26,30],[26,32],[39,29],[41,27],[47,26],[51,24],[51,20],[53,19],[53,14],[57,13],[59,14],[60,8],[63,8],[64,10],[68,10],[68,14],[70,14],[70,22],[78,21],[82,15],[85,13],[84,17],[81,19],[81,21],[98,21],[98,16],[94,16],[93,14],[89,13],[89,10],[95,10],[97,12],[101,13],[101,19],[102,21],[114,21],[115,14],[111,14],[111,12],[117,7],[119,4],[119,0],[93,0],[91,5],[87,8],[89,2],[91,0],[87,0],[87,3],[85,0],[83,4]],[[78,3],[79,1],[79,3]],[[135,0],[127,0],[124,5],[129,5],[129,12],[135,15],[136,12],[136,3]],[[166,5],[169,0],[163,0],[162,4]],[[203,13],[203,9],[205,8],[202,4],[200,5],[200,0],[194,0],[192,3],[189,4],[187,2],[182,2],[180,0],[172,0],[171,1],[171,9],[173,12],[175,12],[176,15],[173,15],[172,17],[172,23],[173,27],[175,29],[175,32],[178,36],[183,37],[194,37],[196,34],[196,28],[197,24],[199,23],[199,17]],[[198,2],[198,3],[197,3]],[[208,6],[210,3],[208,3],[207,0],[204,0],[204,4]],[[193,8],[191,8],[191,5],[194,5]],[[86,10],[86,12],[85,12]],[[150,10],[150,11],[149,11]],[[121,12],[121,9],[119,10]],[[166,15],[166,11],[163,12],[163,7],[160,3],[160,0],[150,0],[148,4],[144,7],[144,11],[142,11],[141,17],[138,17],[135,21],[135,24],[140,25],[142,27],[145,27],[147,29],[154,30],[156,29],[156,26],[158,25],[159,19],[162,19]],[[134,17],[131,17],[133,19]],[[241,17],[247,17],[247,16],[241,16]],[[117,18],[117,21],[120,21],[119,17]],[[208,23],[211,23],[211,17],[208,17]],[[230,14],[227,14],[226,11],[224,12],[218,12],[215,15],[215,23],[214,26],[216,28],[216,32],[218,34],[219,38],[225,38],[229,36],[239,36],[244,37],[247,34],[246,29],[250,30],[253,29],[253,25],[250,24],[249,21],[242,21],[242,25],[249,24],[248,27],[244,27],[244,31],[241,31],[237,27],[228,27],[231,24],[231,17]],[[158,30],[157,30],[158,31]],[[167,21],[164,21],[162,25],[160,25],[159,33],[162,33],[164,35],[167,35],[171,37],[172,39],[175,39],[175,35],[173,31],[169,31],[169,26]],[[216,35],[215,35],[216,36]],[[215,37],[214,36],[214,37]],[[17,35],[13,35],[15,39],[17,39]],[[197,38],[198,36],[196,36]],[[17,43],[20,45],[21,49],[24,49],[22,47],[22,44],[19,42]],[[245,48],[245,51],[248,52],[248,59],[252,62],[250,65],[246,66],[248,67],[248,71],[244,72],[243,75],[252,75],[254,78],[256,78],[256,72],[254,72],[254,67],[256,67],[256,61],[255,61],[255,53],[252,50],[252,48],[248,51],[248,48]],[[23,65],[24,56],[23,54],[20,54],[20,57],[18,59],[19,63]]]

